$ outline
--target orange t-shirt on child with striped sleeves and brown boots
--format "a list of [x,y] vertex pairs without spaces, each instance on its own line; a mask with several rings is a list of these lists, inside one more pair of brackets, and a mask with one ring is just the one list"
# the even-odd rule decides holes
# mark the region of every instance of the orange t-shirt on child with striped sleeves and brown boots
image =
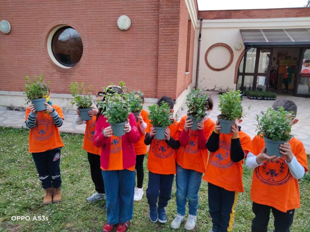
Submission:
[[[60,106],[52,105],[59,117],[64,119],[64,114]],[[26,109],[25,122],[30,114],[30,107]],[[29,152],[38,153],[63,147],[58,127],[55,126],[53,119],[46,111],[37,112],[36,126],[29,132]]]

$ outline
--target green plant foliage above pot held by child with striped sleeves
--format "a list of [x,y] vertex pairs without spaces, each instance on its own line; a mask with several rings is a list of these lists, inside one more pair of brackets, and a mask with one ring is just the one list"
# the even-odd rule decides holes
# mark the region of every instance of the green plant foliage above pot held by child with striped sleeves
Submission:
[[40,76],[34,76],[34,80],[31,83],[29,76],[26,76],[27,84],[25,84],[25,90],[23,94],[27,96],[27,103],[29,103],[30,100],[48,96],[49,88],[44,83],[43,79],[44,76],[42,74]]

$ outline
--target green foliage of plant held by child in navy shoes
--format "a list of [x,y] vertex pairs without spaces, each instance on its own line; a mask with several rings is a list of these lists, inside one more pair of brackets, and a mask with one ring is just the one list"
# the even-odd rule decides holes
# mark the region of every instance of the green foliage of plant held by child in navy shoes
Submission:
[[173,114],[170,113],[170,106],[167,102],[162,101],[161,105],[150,105],[148,109],[150,110],[148,119],[151,120],[153,127],[168,127],[172,124],[170,117]]

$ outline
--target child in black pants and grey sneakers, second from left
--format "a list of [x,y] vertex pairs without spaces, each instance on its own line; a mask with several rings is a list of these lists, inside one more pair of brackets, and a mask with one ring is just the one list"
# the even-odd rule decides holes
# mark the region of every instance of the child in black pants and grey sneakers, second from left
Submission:
[[[96,100],[101,101],[104,92],[98,92],[96,95]],[[77,109],[77,116],[75,117],[75,123],[78,125],[86,124],[85,133],[84,133],[84,142],[83,149],[87,152],[88,162],[91,168],[91,179],[95,185],[96,192],[87,197],[87,202],[93,202],[97,200],[105,199],[104,192],[104,183],[102,178],[102,173],[100,169],[100,148],[97,148],[94,143],[95,127],[96,127],[96,118],[98,114],[98,103],[94,101],[96,105],[93,107],[93,110],[88,111],[88,114],[92,117],[91,120],[82,121],[80,117],[80,111]]]

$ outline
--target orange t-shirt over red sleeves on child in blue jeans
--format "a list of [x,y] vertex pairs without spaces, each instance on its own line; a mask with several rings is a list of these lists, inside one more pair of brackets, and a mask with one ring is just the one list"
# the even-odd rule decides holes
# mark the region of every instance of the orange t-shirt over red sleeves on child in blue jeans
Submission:
[[[179,131],[183,131],[187,115],[184,115],[179,123]],[[208,118],[203,125],[203,131],[208,140],[215,123]],[[207,166],[208,150],[199,149],[197,131],[189,129],[189,142],[186,147],[180,146],[177,155],[177,163],[185,169],[195,170],[197,172],[205,173]]]

